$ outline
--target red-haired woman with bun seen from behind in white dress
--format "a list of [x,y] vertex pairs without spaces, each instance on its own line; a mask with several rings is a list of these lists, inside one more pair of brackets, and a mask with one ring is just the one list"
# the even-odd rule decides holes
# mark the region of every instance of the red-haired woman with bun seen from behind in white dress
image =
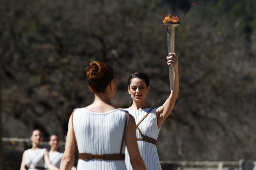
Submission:
[[75,109],[70,116],[60,169],[72,168],[77,147],[77,170],[126,170],[126,146],[133,169],[145,170],[133,116],[111,104],[116,93],[114,69],[106,63],[91,62],[86,72],[95,99],[92,104]]

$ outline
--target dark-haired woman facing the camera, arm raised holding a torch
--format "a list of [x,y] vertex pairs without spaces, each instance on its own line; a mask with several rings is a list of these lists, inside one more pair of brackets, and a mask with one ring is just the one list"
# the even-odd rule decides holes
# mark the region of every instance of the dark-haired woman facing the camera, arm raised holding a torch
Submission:
[[[131,74],[128,79],[128,92],[133,101],[128,108],[123,110],[129,111],[134,117],[137,125],[137,143],[140,155],[145,162],[147,170],[161,170],[160,161],[157,154],[157,137],[163,121],[171,113],[174,104],[178,98],[179,76],[178,76],[178,57],[175,53],[169,53],[168,65],[174,66],[174,90],[165,103],[157,108],[149,107],[146,101],[146,95],[149,93],[149,78],[144,73]],[[125,150],[127,153],[127,150]],[[132,170],[129,156],[125,157],[126,168]]]

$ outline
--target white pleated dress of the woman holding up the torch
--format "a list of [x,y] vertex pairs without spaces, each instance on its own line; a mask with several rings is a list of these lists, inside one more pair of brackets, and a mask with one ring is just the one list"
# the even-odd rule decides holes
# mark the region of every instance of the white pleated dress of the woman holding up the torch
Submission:
[[[127,108],[123,109],[128,111],[131,116],[134,117],[136,125],[142,120],[142,118],[148,113],[151,108],[146,108],[143,110],[129,110]],[[146,118],[139,124],[138,128],[142,132],[143,135],[148,137],[154,138],[157,140],[158,134],[160,132],[160,128],[157,127],[157,116],[156,116],[156,109],[154,108],[151,110],[146,116]],[[142,138],[139,130],[136,130],[137,138]],[[145,162],[147,170],[162,170],[158,153],[157,153],[157,146],[155,144],[138,140],[137,141],[139,146],[140,155]],[[131,163],[130,163],[130,156],[128,154],[127,148],[125,148],[125,164],[127,170],[133,170]]]

